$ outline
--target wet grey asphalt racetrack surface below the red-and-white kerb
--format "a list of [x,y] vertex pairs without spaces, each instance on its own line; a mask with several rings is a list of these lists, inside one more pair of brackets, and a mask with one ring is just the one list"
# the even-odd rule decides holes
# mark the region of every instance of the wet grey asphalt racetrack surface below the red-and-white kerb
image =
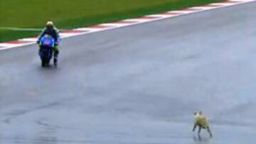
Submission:
[[[256,142],[256,3],[0,51],[0,143]],[[193,112],[213,138],[192,133]]]

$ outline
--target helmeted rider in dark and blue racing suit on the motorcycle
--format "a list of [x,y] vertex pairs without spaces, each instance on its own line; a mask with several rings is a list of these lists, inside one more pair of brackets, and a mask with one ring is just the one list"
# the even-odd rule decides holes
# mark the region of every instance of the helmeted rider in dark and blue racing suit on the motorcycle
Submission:
[[40,42],[41,38],[44,35],[50,35],[55,40],[55,45],[54,45],[54,48],[53,48],[53,55],[54,55],[53,63],[54,63],[54,65],[57,65],[58,54],[59,54],[58,44],[60,43],[60,35],[59,35],[59,32],[58,32],[58,29],[54,26],[52,21],[48,21],[46,23],[46,28],[44,28],[43,31],[41,32],[41,34],[38,36],[37,43]]

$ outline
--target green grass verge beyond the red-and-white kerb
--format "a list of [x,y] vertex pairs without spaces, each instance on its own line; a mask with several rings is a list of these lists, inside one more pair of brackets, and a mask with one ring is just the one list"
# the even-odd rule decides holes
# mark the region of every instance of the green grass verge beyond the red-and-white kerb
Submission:
[[[54,21],[58,28],[78,28],[216,1],[223,0],[0,0],[0,27],[43,28]],[[0,41],[38,33],[0,29]]]

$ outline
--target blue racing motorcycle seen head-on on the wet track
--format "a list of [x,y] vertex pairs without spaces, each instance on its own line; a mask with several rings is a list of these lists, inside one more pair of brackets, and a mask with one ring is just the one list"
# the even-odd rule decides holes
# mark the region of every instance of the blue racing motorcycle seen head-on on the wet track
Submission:
[[40,47],[39,56],[41,57],[42,67],[49,66],[50,60],[53,57],[53,48],[55,47],[54,38],[50,35],[43,35],[43,37],[39,40],[38,45]]

